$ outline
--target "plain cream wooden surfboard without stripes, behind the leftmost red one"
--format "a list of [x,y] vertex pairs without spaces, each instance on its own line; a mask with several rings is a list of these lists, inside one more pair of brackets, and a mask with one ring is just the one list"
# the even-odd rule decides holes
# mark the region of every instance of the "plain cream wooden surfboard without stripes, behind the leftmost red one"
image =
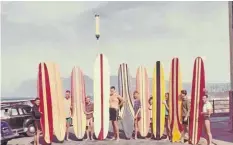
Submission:
[[64,112],[64,96],[58,65],[47,63],[49,66],[50,90],[52,99],[53,132],[58,141],[64,141],[66,132],[66,117]]

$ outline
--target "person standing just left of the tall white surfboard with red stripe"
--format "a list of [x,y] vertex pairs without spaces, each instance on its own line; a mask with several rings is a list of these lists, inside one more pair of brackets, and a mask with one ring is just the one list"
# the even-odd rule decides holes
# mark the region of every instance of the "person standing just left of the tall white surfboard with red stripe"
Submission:
[[[86,97],[86,119],[87,119],[87,123],[86,123],[86,134],[87,134],[87,139],[92,140],[93,135],[94,135],[94,124],[93,124],[93,112],[94,112],[94,104],[91,102],[90,97],[87,96]],[[89,133],[91,133],[91,136],[89,136]]]

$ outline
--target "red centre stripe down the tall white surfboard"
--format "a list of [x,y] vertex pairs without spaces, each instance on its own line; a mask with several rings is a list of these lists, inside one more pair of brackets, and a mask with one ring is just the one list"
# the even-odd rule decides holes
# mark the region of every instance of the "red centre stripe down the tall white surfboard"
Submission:
[[103,55],[100,54],[100,96],[101,96],[101,130],[100,134],[98,136],[98,139],[103,140],[104,139],[104,114],[103,114],[103,106],[104,106],[104,91],[103,91]]

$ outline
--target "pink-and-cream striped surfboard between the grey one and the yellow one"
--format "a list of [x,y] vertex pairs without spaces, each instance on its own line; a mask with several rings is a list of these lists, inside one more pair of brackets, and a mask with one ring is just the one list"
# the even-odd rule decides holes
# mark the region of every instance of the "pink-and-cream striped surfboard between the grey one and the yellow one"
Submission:
[[142,137],[146,137],[150,126],[149,112],[149,81],[146,68],[140,66],[136,74],[136,90],[140,94],[141,100],[141,119],[139,120],[139,132]]

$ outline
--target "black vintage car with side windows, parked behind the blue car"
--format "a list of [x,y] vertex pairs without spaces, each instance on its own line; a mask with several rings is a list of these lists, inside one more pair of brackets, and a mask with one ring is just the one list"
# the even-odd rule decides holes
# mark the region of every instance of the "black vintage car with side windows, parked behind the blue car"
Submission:
[[1,120],[5,121],[17,134],[33,136],[35,126],[32,117],[32,107],[29,105],[2,105]]

